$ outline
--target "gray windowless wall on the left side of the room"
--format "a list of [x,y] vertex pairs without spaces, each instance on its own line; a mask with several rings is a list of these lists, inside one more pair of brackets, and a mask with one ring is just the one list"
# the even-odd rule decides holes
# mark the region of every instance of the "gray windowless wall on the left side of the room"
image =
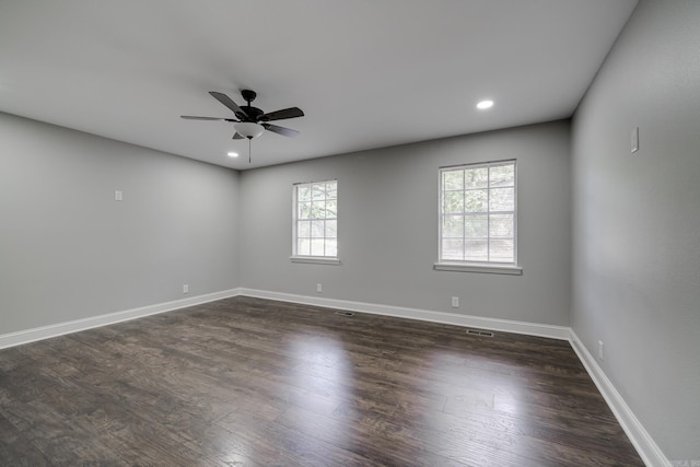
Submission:
[[237,177],[0,114],[0,335],[237,287]]

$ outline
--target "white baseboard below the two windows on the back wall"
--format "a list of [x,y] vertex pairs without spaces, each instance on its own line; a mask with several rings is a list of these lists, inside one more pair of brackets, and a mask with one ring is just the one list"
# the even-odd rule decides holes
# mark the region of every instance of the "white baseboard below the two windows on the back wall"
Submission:
[[396,316],[399,318],[419,319],[464,327],[500,330],[503,332],[525,334],[528,336],[549,337],[569,340],[569,328],[564,326],[542,325],[511,319],[487,318],[482,316],[458,315],[456,313],[432,312],[428,310],[407,308],[402,306],[378,305],[374,303],[351,302],[348,300],[324,299],[291,293],[270,292],[267,290],[241,289],[241,295],[258,299],[278,300],[280,302],[301,303],[326,308],[364,312],[375,315]]

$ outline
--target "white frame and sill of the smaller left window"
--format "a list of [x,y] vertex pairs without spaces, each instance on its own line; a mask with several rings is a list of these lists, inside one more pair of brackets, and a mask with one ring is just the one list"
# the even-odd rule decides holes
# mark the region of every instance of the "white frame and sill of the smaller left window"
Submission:
[[[325,207],[324,209],[324,217],[323,218],[313,218],[313,220],[316,221],[324,221],[324,233],[323,236],[320,237],[312,237],[312,233],[311,233],[311,229],[312,226],[310,225],[310,236],[304,236],[303,238],[308,238],[310,242],[312,241],[312,238],[316,238],[316,240],[322,240],[323,244],[324,244],[324,255],[312,255],[311,254],[311,249],[308,252],[308,254],[303,254],[299,252],[299,227],[300,227],[300,222],[306,222],[305,219],[299,219],[299,213],[300,213],[300,205],[306,201],[302,201],[299,199],[299,191],[301,188],[307,188],[310,190],[313,189],[314,185],[319,185],[319,184],[329,184],[329,183],[335,183],[336,184],[336,198],[324,198],[323,200],[313,200],[313,196],[312,199],[308,201],[311,202],[311,207],[310,207],[310,211],[313,211],[313,205],[315,202],[326,202],[329,200],[334,200],[336,201],[336,217],[327,217],[327,211],[325,211]],[[290,256],[290,259],[292,260],[292,262],[307,262],[307,264],[317,264],[317,265],[339,265],[340,264],[340,258],[338,256],[338,179],[334,178],[334,179],[329,179],[329,180],[320,180],[320,182],[304,182],[304,183],[296,183],[292,185],[292,256]],[[335,236],[335,242],[336,242],[336,254],[335,255],[325,255],[325,249],[328,246],[327,245],[327,241],[334,240],[334,237],[327,236],[327,229],[326,229],[326,222],[327,221],[335,221],[336,223],[336,236]],[[312,218],[308,218],[308,222],[312,222]],[[310,246],[311,248],[311,246]]]

